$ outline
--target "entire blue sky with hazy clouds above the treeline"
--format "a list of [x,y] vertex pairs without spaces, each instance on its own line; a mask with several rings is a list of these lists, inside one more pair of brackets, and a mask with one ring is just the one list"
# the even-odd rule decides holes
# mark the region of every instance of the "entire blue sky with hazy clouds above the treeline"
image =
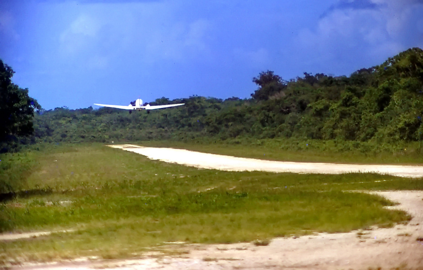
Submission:
[[261,71],[349,75],[410,47],[422,0],[0,1],[0,58],[45,109],[246,98]]

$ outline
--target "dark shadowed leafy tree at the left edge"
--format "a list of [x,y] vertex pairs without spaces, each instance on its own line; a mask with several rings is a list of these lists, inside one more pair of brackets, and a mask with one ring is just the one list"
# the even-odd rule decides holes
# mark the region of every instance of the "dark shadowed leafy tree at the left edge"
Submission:
[[38,102],[28,96],[28,89],[19,88],[11,81],[14,71],[0,59],[0,143],[16,141],[17,137],[31,135],[34,110],[41,109]]

